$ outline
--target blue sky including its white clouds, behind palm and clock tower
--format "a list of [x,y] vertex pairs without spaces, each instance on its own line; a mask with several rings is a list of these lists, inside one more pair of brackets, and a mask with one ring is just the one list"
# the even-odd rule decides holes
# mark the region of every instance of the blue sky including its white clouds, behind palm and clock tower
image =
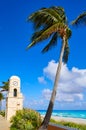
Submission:
[[[59,47],[46,54],[41,54],[43,44],[26,51],[33,33],[26,19],[50,6],[62,6],[70,23],[86,10],[86,0],[0,0],[0,85],[12,75],[19,76],[24,106],[33,109],[47,108]],[[62,67],[54,109],[86,109],[86,27],[71,29],[69,60]]]

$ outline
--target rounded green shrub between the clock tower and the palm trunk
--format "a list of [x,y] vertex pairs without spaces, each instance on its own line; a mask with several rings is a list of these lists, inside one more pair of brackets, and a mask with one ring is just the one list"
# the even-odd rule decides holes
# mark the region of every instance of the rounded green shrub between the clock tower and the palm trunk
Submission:
[[41,116],[34,110],[23,109],[16,112],[11,123],[11,130],[37,130],[41,125]]

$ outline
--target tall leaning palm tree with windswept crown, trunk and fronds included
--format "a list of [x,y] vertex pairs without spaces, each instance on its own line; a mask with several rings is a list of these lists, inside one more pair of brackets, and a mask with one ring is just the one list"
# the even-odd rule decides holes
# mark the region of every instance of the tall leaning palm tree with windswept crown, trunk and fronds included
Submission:
[[57,93],[62,61],[66,63],[68,60],[68,39],[71,36],[71,30],[67,25],[67,18],[62,7],[42,8],[39,11],[31,14],[28,17],[28,21],[29,20],[34,23],[35,32],[31,38],[32,42],[27,46],[27,49],[33,47],[43,40],[50,38],[50,42],[42,50],[44,53],[57,45],[58,38],[62,39],[59,64],[56,71],[51,99],[44,120],[39,128],[39,130],[47,130]]

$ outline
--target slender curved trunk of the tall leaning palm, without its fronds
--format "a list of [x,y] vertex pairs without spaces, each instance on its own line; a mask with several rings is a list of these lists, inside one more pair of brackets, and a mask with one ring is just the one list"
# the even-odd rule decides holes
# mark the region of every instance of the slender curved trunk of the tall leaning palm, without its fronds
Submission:
[[59,58],[59,64],[58,64],[58,67],[57,67],[55,81],[54,81],[54,88],[53,88],[53,91],[52,91],[50,103],[49,103],[46,115],[44,117],[44,120],[42,122],[42,125],[38,130],[47,130],[47,127],[48,127],[48,124],[49,124],[49,121],[50,121],[50,118],[51,118],[51,114],[52,114],[52,110],[53,110],[54,102],[55,102],[55,98],[56,98],[56,93],[57,93],[58,81],[59,81],[60,72],[61,72],[62,58],[63,58],[63,54],[64,54],[65,44],[66,44],[66,39],[65,39],[65,36],[64,36],[62,48],[61,48],[61,53],[60,53],[60,58]]

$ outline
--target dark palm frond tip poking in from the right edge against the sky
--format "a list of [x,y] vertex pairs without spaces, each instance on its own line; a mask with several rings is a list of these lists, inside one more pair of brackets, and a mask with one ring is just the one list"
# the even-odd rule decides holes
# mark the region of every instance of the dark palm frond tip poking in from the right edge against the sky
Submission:
[[86,26],[86,11],[80,14],[73,22],[73,25],[85,25]]

